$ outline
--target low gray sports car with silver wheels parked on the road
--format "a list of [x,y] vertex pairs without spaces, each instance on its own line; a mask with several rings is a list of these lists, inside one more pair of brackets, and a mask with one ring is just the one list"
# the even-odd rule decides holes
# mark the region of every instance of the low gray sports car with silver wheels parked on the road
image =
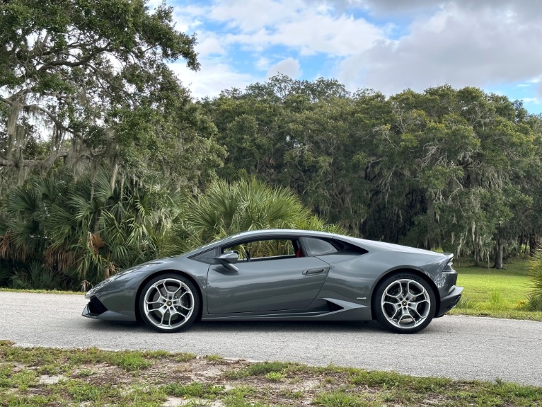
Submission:
[[461,298],[453,256],[318,231],[248,231],[100,282],[83,316],[160,332],[196,319],[376,319],[415,333]]

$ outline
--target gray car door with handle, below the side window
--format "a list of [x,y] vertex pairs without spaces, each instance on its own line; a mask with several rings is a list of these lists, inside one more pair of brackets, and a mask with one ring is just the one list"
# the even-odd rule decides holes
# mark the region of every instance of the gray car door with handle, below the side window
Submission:
[[316,298],[330,266],[316,257],[297,256],[245,258],[235,264],[237,271],[211,265],[209,314],[305,309]]

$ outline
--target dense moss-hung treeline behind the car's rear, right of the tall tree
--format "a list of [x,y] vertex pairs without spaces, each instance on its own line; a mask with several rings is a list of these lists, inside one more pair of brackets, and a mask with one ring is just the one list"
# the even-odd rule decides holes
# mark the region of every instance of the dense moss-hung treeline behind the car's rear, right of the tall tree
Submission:
[[351,234],[497,268],[536,248],[541,117],[519,101],[450,86],[386,98],[275,76],[202,107],[228,151],[219,176],[292,188]]

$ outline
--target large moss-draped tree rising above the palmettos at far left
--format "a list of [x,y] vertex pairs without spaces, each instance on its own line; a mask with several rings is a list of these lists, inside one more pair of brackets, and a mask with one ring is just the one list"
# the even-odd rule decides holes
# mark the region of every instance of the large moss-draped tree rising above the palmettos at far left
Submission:
[[[224,151],[167,62],[198,69],[195,38],[146,0],[0,4],[0,188],[32,168],[151,167],[209,179]],[[39,151],[33,149],[38,142]],[[0,189],[1,190],[1,189]]]

